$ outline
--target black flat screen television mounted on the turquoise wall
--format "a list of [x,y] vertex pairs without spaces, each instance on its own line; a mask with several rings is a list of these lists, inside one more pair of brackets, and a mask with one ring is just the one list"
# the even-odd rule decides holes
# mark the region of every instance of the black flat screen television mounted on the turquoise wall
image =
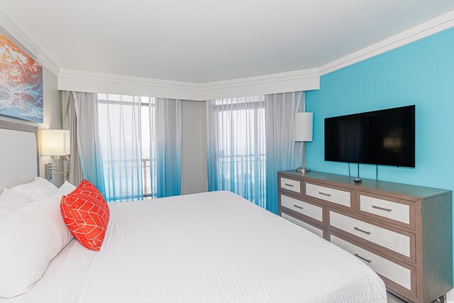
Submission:
[[325,119],[325,160],[415,165],[415,106]]

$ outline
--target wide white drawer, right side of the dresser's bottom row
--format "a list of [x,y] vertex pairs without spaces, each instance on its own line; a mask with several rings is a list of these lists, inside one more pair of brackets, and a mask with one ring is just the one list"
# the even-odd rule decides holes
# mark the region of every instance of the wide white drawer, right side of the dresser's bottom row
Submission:
[[371,253],[333,235],[331,235],[331,243],[352,253],[383,277],[387,277],[407,290],[411,290],[411,270],[409,268],[404,268],[402,265],[382,258],[380,255],[375,255],[375,253]]

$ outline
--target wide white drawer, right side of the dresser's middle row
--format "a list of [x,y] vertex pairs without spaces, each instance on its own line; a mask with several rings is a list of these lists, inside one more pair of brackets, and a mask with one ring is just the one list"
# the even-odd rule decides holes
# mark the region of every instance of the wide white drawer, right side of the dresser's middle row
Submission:
[[410,237],[402,233],[389,231],[389,229],[353,219],[350,216],[329,211],[329,224],[367,241],[383,246],[397,253],[410,257]]

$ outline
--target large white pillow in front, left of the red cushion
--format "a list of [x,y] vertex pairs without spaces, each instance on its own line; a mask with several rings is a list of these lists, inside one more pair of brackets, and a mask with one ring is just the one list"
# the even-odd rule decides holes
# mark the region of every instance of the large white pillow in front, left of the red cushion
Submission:
[[28,292],[72,236],[60,198],[38,199],[0,218],[0,297]]

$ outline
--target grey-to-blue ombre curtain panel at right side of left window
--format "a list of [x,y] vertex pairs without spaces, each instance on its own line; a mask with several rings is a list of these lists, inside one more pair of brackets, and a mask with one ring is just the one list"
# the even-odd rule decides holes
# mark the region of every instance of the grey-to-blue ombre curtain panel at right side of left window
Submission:
[[155,104],[157,197],[177,196],[181,193],[181,101],[155,98]]

